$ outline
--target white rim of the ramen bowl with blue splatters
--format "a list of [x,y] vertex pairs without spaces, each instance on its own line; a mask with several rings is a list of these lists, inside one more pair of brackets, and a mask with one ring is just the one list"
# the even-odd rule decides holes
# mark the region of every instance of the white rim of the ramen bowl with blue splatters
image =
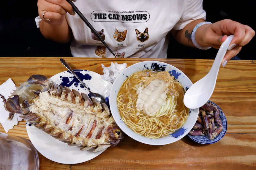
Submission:
[[121,130],[131,137],[132,139],[145,143],[148,145],[167,145],[173,142],[176,142],[186,136],[188,132],[193,128],[198,112],[198,109],[189,109],[188,117],[185,123],[182,125],[181,128],[176,130],[175,132],[166,135],[165,137],[160,137],[156,139],[152,139],[149,137],[145,137],[135,133],[130,127],[128,127],[122,120],[121,115],[118,111],[117,105],[117,96],[119,89],[121,88],[123,82],[131,75],[136,72],[144,71],[144,70],[156,70],[156,71],[168,71],[170,75],[173,75],[187,90],[191,85],[192,82],[189,78],[178,68],[164,63],[160,61],[142,61],[136,64],[133,64],[127,67],[123,72],[121,72],[116,80],[113,82],[112,88],[110,90],[110,97],[109,97],[109,104],[110,104],[110,111],[113,115],[113,118],[116,121],[116,124],[121,128]]

